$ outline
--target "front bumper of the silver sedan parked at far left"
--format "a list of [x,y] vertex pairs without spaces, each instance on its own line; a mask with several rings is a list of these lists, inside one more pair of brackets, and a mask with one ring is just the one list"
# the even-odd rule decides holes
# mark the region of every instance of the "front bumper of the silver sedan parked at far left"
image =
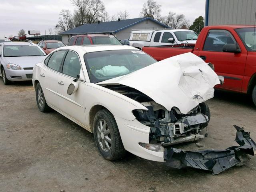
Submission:
[[12,70],[5,68],[6,78],[10,81],[29,81],[32,80],[33,70]]

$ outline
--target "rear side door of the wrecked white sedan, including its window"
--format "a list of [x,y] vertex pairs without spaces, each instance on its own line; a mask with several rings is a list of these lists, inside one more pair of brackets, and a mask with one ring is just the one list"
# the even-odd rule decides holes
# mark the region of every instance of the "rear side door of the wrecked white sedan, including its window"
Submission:
[[[42,86],[46,102],[58,108],[58,75],[66,50],[53,52],[48,62],[42,66],[40,71],[40,84]],[[46,58],[46,60],[48,57]]]

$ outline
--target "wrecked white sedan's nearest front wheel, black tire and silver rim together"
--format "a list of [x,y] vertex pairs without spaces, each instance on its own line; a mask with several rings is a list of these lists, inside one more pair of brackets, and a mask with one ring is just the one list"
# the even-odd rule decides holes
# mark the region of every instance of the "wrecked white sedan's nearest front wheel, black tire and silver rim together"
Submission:
[[106,109],[96,113],[93,123],[94,140],[100,154],[107,160],[117,160],[125,149],[114,116]]

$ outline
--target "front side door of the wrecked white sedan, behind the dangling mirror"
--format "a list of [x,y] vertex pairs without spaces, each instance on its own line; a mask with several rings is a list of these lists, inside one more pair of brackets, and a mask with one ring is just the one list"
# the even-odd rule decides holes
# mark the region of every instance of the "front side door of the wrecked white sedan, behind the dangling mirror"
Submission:
[[78,90],[74,94],[67,93],[68,86],[80,73],[80,58],[76,52],[68,51],[62,64],[61,74],[58,76],[58,102],[59,109],[72,117],[74,120],[84,124],[84,84],[78,80]]

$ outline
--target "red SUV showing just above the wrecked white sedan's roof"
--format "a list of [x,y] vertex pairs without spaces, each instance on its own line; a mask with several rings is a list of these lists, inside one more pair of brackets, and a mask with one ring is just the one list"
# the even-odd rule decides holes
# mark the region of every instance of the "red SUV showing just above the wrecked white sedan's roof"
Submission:
[[84,34],[72,36],[68,42],[70,45],[90,45],[90,44],[110,44],[122,45],[120,41],[112,35],[106,34]]

